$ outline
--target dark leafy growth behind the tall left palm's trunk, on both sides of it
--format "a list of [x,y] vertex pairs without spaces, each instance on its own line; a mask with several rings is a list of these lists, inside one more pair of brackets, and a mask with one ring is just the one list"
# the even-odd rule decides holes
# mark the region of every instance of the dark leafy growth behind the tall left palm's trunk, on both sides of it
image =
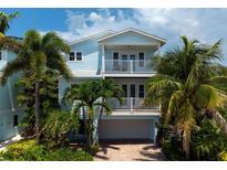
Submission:
[[[48,113],[60,108],[58,96],[58,73],[53,70],[47,70],[40,82],[40,109],[42,123],[44,124]],[[17,99],[19,106],[24,107],[27,113],[20,123],[22,127],[21,135],[31,137],[35,134],[34,128],[34,79],[25,74],[21,74],[20,79],[16,83],[18,89]]]

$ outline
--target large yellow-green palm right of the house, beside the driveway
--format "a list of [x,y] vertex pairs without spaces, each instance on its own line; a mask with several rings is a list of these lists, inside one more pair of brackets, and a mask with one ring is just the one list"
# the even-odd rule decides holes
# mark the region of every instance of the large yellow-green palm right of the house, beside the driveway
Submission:
[[207,110],[215,111],[227,102],[227,94],[219,88],[227,77],[215,63],[221,59],[220,41],[205,45],[197,40],[182,36],[184,46],[175,47],[164,56],[156,56],[157,75],[147,85],[147,104],[161,104],[163,119],[183,136],[183,150],[189,159],[190,135],[197,118]]

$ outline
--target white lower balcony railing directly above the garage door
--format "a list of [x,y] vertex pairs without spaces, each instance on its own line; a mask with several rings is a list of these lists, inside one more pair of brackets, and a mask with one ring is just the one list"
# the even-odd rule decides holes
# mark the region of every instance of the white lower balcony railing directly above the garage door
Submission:
[[113,109],[127,109],[127,110],[143,110],[143,109],[153,109],[153,110],[159,110],[158,106],[145,106],[144,105],[144,98],[123,98],[123,104],[121,105],[118,100],[115,98],[110,98],[107,100]]

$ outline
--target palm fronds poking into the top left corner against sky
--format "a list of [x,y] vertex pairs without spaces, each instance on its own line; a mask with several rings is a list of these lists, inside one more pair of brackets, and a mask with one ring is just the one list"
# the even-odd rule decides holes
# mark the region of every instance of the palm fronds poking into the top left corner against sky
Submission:
[[11,14],[6,14],[0,11],[0,33],[3,35],[10,29],[10,22],[12,19],[18,18],[19,12],[13,12]]

